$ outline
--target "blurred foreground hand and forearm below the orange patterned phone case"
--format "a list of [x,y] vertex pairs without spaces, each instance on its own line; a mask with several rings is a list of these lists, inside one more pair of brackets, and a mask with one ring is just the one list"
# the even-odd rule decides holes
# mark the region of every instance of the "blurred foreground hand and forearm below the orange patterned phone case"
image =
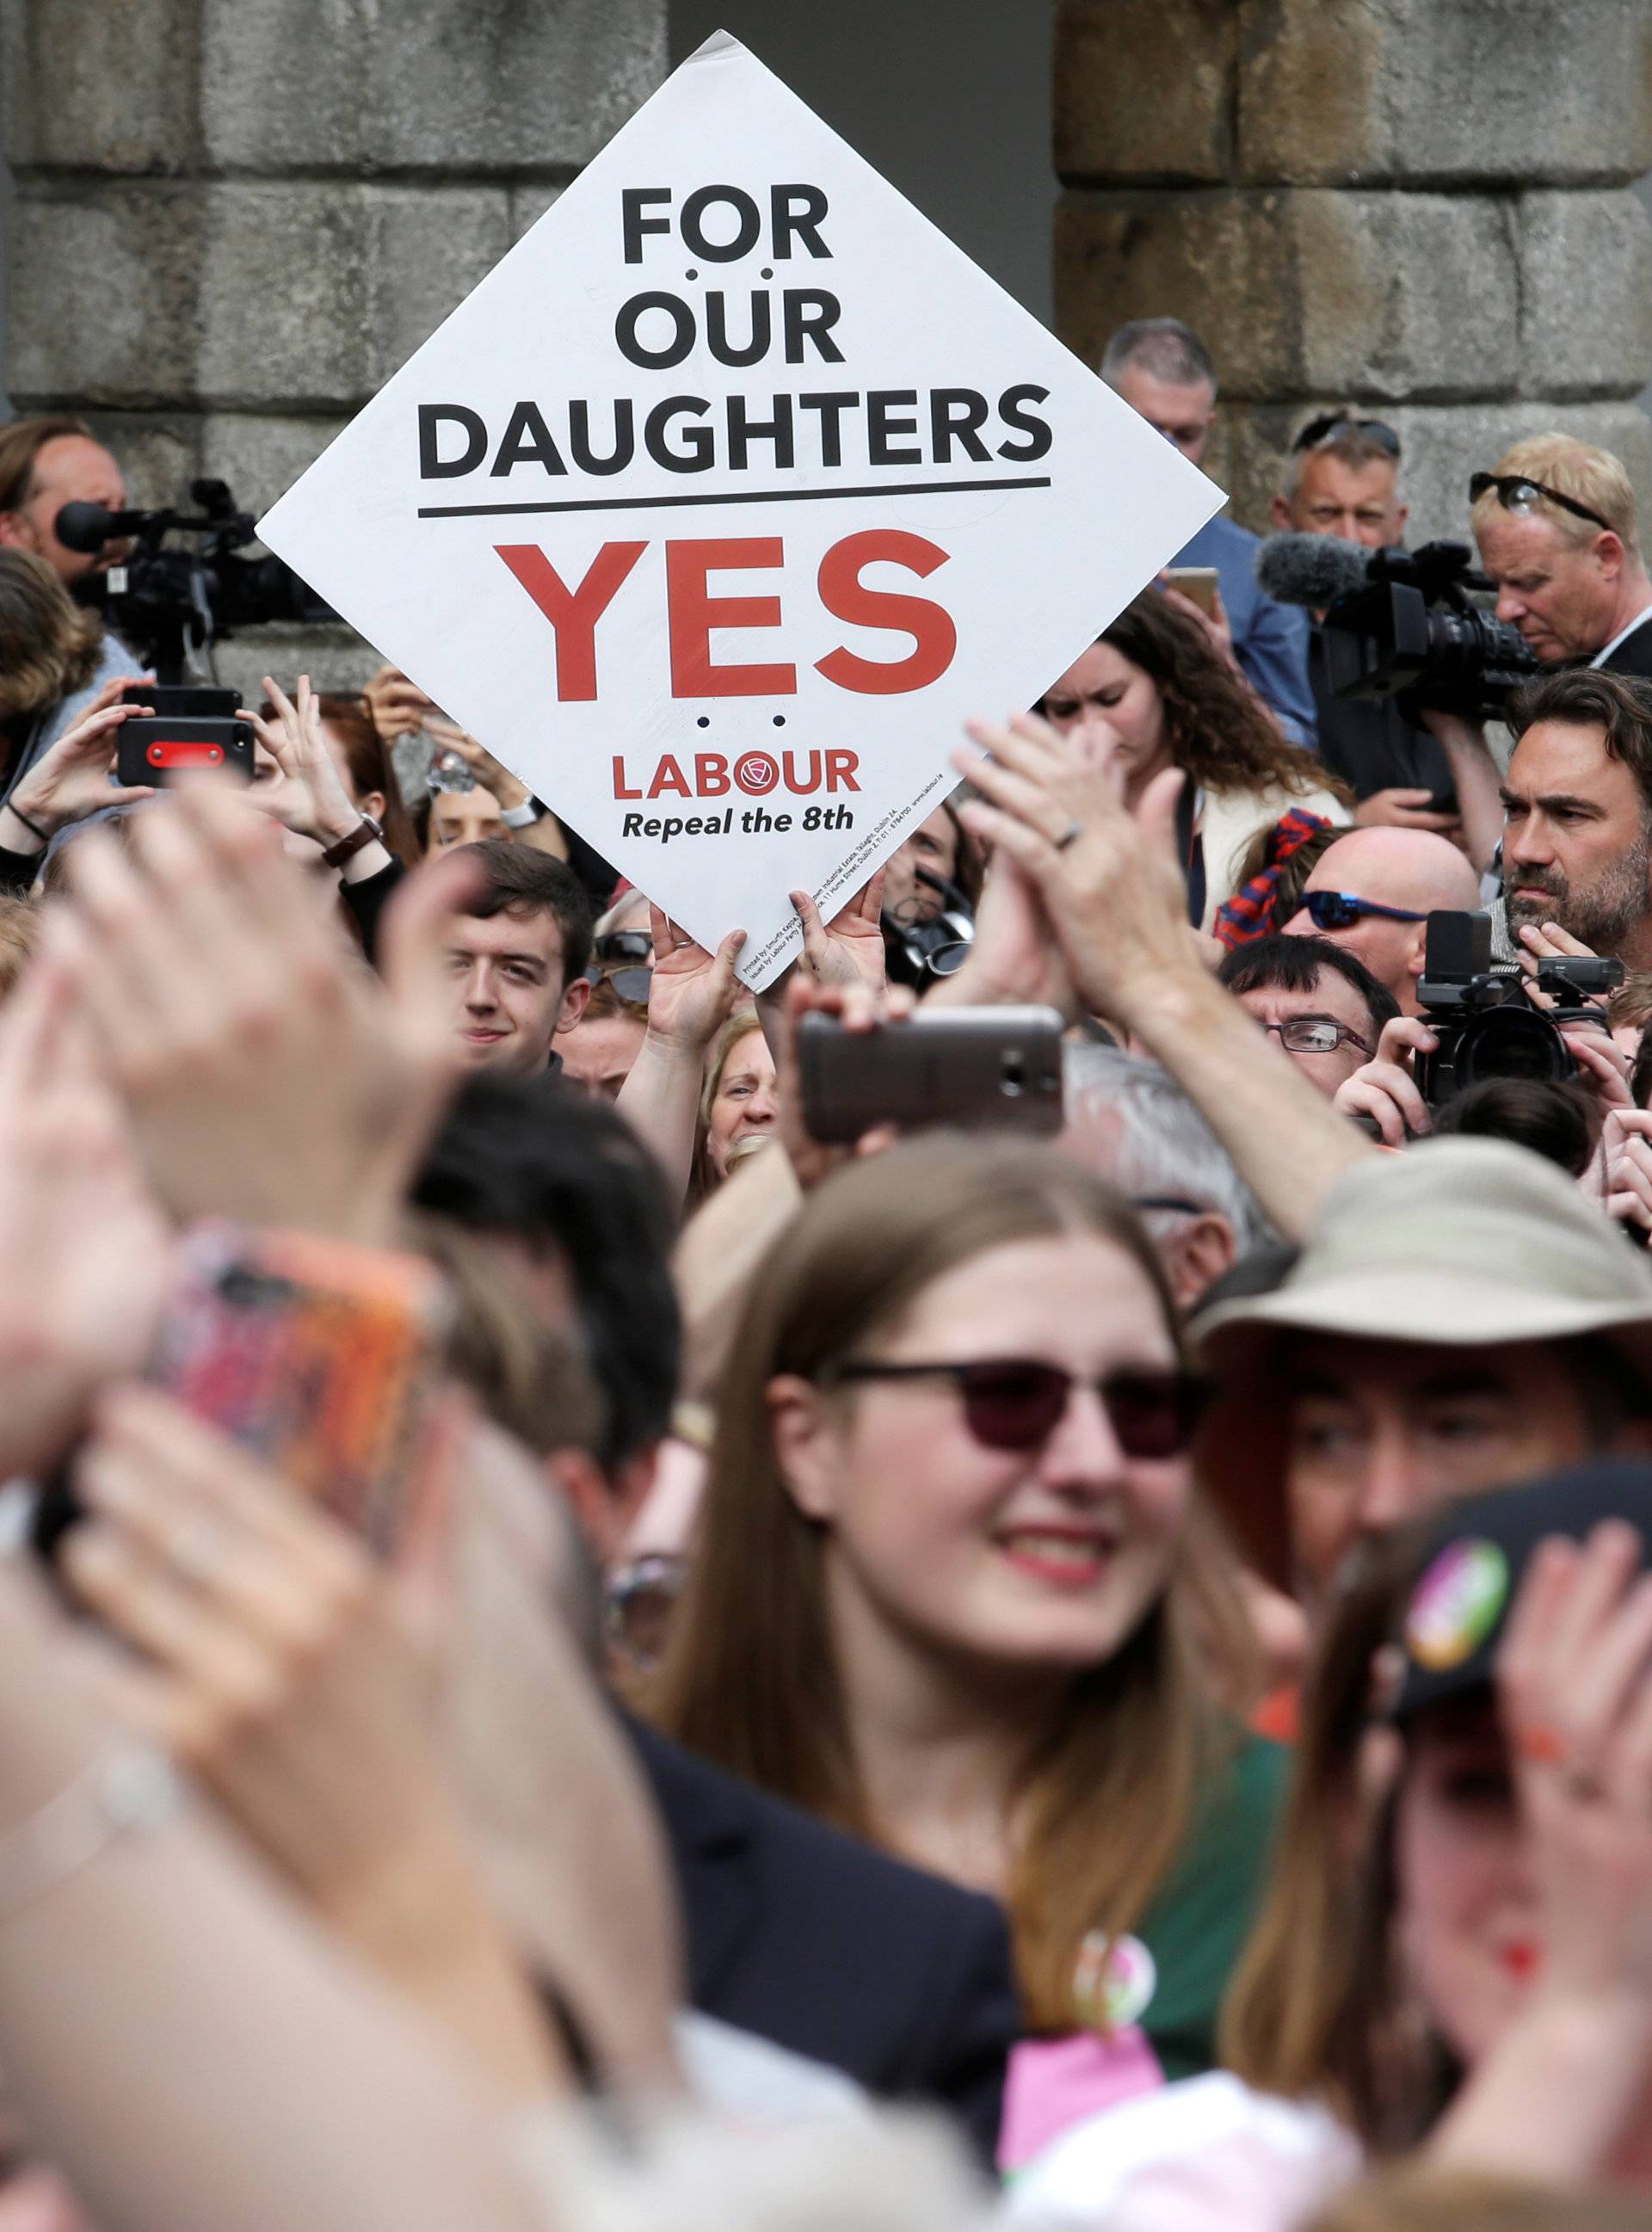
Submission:
[[[455,1422],[442,1453],[453,1509]],[[375,1565],[156,1388],[112,1391],[76,1466],[65,1578],[127,1649],[127,1721],[179,1754],[310,1906],[511,2091],[554,2074],[464,1855],[442,1759],[442,1533]]]

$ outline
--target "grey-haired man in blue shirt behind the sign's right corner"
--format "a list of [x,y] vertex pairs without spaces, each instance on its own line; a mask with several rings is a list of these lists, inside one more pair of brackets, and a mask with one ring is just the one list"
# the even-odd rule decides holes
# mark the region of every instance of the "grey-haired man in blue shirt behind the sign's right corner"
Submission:
[[[1217,371],[1210,355],[1174,317],[1139,317],[1121,326],[1101,357],[1101,377],[1147,424],[1199,464],[1217,417]],[[1176,551],[1170,571],[1214,567],[1214,612],[1199,618],[1272,710],[1286,737],[1313,750],[1315,716],[1308,690],[1308,620],[1257,587],[1259,536],[1217,516]],[[1181,591],[1172,591],[1181,594]],[[1194,600],[1197,603],[1197,600]]]

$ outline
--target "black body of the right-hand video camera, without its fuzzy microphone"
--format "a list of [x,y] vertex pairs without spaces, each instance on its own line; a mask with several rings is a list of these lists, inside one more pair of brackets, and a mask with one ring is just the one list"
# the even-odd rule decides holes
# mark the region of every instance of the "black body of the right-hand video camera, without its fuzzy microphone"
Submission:
[[1491,583],[1467,542],[1373,551],[1364,589],[1339,596],[1324,618],[1326,674],[1339,699],[1400,701],[1469,721],[1496,716],[1540,672],[1518,629],[1473,603]]

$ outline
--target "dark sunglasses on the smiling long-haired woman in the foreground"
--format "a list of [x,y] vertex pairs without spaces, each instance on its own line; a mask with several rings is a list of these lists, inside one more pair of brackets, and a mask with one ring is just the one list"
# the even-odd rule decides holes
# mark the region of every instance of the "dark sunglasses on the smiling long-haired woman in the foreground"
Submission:
[[835,1379],[951,1379],[964,1399],[964,1426],[982,1449],[1027,1455],[1067,1413],[1074,1386],[1094,1386],[1114,1440],[1127,1457],[1181,1457],[1208,1386],[1194,1373],[1110,1373],[1078,1379],[1060,1364],[1029,1357],[978,1357],[967,1364],[839,1364]]

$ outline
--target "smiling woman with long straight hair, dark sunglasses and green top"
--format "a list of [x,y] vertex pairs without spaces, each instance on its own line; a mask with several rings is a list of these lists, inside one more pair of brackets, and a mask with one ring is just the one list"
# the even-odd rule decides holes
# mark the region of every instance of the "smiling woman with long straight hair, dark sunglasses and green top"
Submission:
[[1002,2158],[1210,2065],[1279,1754],[1194,1504],[1197,1384],[1127,1205],[926,1134],[815,1190],[730,1350],[656,1714],[1005,1899]]

